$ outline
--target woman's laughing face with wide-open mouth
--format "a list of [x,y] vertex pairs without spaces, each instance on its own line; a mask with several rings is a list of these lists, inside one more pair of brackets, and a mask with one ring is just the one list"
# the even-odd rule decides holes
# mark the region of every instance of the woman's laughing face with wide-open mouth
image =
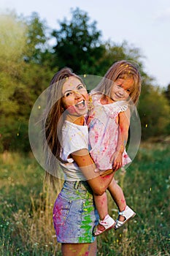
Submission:
[[71,116],[84,116],[88,112],[88,91],[82,82],[74,76],[63,84],[62,103],[64,110]]

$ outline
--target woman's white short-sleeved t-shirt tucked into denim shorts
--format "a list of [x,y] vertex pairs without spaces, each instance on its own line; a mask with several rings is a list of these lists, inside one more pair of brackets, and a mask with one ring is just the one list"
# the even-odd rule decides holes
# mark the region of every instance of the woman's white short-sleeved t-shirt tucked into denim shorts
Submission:
[[61,163],[66,181],[85,181],[80,168],[70,154],[80,149],[88,149],[88,126],[64,121],[62,128],[61,159],[68,163]]

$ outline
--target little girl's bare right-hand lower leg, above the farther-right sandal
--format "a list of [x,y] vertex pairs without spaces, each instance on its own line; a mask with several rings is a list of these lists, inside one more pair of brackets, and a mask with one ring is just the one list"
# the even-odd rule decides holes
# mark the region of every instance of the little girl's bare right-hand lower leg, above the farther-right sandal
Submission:
[[[108,190],[113,200],[115,201],[119,211],[124,211],[126,206],[125,196],[121,187],[116,183],[115,178],[112,178]],[[123,222],[125,220],[125,217],[119,216],[119,220]]]

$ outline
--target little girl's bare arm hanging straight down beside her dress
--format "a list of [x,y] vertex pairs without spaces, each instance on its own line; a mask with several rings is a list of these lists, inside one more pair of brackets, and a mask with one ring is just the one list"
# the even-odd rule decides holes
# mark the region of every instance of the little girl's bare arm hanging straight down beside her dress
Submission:
[[118,170],[122,166],[122,154],[128,141],[128,129],[130,125],[131,112],[128,110],[119,113],[119,132],[117,139],[116,151],[112,156],[114,170]]

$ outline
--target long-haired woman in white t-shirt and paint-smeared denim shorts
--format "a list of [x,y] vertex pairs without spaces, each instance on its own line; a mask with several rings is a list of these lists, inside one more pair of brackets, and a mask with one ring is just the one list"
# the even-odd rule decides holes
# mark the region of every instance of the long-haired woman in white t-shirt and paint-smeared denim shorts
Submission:
[[[96,255],[93,227],[98,223],[98,213],[93,195],[103,195],[113,177],[113,174],[101,177],[94,171],[96,165],[88,153],[88,127],[84,118],[87,100],[85,85],[70,69],[61,69],[54,75],[47,99],[45,134],[47,171],[53,169],[51,159],[55,156],[60,159],[64,173],[63,188],[53,208],[55,233],[63,256]],[[49,172],[47,176],[55,182]],[[107,216],[107,228],[114,224]]]

